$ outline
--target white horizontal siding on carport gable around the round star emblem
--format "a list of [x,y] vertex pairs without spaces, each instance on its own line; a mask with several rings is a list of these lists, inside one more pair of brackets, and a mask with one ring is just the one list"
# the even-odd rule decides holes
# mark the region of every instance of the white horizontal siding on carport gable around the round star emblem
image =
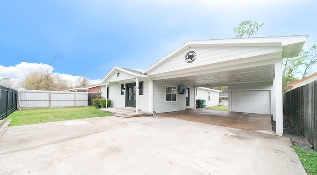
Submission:
[[[196,60],[192,63],[185,62],[185,55],[188,51],[196,52]],[[183,70],[193,67],[206,66],[219,62],[231,61],[241,58],[249,58],[258,55],[281,52],[280,47],[192,47],[179,55],[166,61],[148,75],[166,73],[170,71]],[[265,58],[264,58],[265,59]],[[257,60],[258,61],[258,60]],[[225,66],[225,65],[224,65]]]

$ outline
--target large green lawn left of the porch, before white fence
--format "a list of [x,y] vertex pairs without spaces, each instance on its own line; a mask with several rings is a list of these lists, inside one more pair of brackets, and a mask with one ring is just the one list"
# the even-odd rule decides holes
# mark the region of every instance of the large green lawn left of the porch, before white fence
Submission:
[[112,116],[112,113],[100,111],[94,106],[70,108],[41,108],[15,111],[5,119],[11,119],[9,126],[47,123],[70,119]]

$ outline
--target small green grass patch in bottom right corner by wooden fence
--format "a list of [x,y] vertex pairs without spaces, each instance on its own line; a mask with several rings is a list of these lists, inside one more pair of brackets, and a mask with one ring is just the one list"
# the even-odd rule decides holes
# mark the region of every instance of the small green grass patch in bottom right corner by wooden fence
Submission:
[[307,174],[317,175],[317,152],[309,152],[298,146],[291,146],[301,160]]

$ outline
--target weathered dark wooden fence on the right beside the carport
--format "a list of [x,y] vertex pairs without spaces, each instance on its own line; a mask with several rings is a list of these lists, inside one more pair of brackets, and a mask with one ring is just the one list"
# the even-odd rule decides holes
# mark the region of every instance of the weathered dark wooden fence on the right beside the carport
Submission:
[[317,81],[283,95],[284,116],[317,150]]

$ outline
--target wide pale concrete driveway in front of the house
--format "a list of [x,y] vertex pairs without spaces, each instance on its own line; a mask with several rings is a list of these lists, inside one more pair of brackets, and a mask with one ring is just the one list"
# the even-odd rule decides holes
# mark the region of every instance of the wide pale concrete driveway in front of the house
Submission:
[[288,138],[167,117],[9,127],[0,175],[306,175]]

